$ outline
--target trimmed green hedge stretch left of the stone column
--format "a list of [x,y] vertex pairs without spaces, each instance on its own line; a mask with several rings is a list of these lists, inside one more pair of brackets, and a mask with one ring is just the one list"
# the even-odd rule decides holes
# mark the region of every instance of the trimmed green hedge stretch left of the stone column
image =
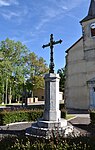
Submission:
[[0,125],[14,122],[35,121],[43,114],[43,110],[17,110],[0,112]]

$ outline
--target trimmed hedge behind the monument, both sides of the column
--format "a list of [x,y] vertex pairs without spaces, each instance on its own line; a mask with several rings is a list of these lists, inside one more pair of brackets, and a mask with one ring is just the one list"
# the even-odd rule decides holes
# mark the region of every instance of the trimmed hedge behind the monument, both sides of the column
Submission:
[[[37,118],[41,118],[43,114],[43,105],[38,107],[28,106],[27,109],[5,109],[0,111],[0,125],[6,125],[14,122],[23,121],[35,121]],[[63,108],[61,109],[61,118],[66,119],[67,111]]]

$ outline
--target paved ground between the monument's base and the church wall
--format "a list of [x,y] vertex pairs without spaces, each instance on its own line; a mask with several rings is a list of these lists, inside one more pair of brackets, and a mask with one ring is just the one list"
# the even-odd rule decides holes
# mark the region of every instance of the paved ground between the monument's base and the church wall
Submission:
[[69,110],[68,112],[75,116],[75,118],[71,119],[69,123],[79,130],[80,134],[95,135],[95,127],[90,124],[90,116],[88,111]]

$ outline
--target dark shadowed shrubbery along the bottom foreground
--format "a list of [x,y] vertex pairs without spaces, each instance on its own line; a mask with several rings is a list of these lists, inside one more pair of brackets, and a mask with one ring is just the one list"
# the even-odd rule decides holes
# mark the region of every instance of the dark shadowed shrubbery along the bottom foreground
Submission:
[[[10,142],[11,141],[11,142]],[[95,137],[45,140],[26,136],[10,136],[0,141],[0,150],[94,150]]]

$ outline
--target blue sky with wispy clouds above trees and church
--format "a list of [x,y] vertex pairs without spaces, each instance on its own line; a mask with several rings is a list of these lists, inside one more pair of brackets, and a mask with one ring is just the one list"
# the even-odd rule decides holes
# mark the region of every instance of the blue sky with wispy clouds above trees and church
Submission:
[[65,51],[82,35],[80,21],[90,0],[0,0],[0,41],[21,41],[49,65],[50,34],[62,44],[54,47],[55,70],[64,67]]

